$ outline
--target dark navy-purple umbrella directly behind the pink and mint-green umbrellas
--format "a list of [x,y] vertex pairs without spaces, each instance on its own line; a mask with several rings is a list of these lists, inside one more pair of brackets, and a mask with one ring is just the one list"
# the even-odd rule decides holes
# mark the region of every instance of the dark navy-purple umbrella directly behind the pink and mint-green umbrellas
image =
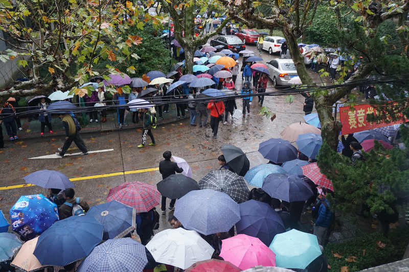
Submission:
[[274,236],[285,232],[280,215],[264,202],[249,200],[239,204],[240,220],[236,223],[238,234],[259,238],[270,245]]

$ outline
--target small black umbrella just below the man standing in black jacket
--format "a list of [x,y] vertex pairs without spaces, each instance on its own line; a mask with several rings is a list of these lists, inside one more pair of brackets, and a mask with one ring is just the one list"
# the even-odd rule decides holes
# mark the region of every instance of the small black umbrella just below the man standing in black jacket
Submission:
[[157,190],[168,199],[180,199],[190,191],[199,190],[197,182],[185,175],[170,175],[158,182]]

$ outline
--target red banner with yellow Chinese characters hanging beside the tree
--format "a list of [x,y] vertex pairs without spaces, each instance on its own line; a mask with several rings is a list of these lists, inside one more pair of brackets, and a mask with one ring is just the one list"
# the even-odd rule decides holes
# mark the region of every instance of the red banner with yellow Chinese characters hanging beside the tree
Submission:
[[367,114],[374,113],[376,111],[373,106],[368,104],[356,105],[351,107],[340,107],[339,108],[339,119],[342,123],[342,135],[363,131],[371,130],[381,127],[386,127],[390,125],[395,125],[396,123],[402,123],[403,121],[396,121],[390,123],[375,123],[367,121]]

